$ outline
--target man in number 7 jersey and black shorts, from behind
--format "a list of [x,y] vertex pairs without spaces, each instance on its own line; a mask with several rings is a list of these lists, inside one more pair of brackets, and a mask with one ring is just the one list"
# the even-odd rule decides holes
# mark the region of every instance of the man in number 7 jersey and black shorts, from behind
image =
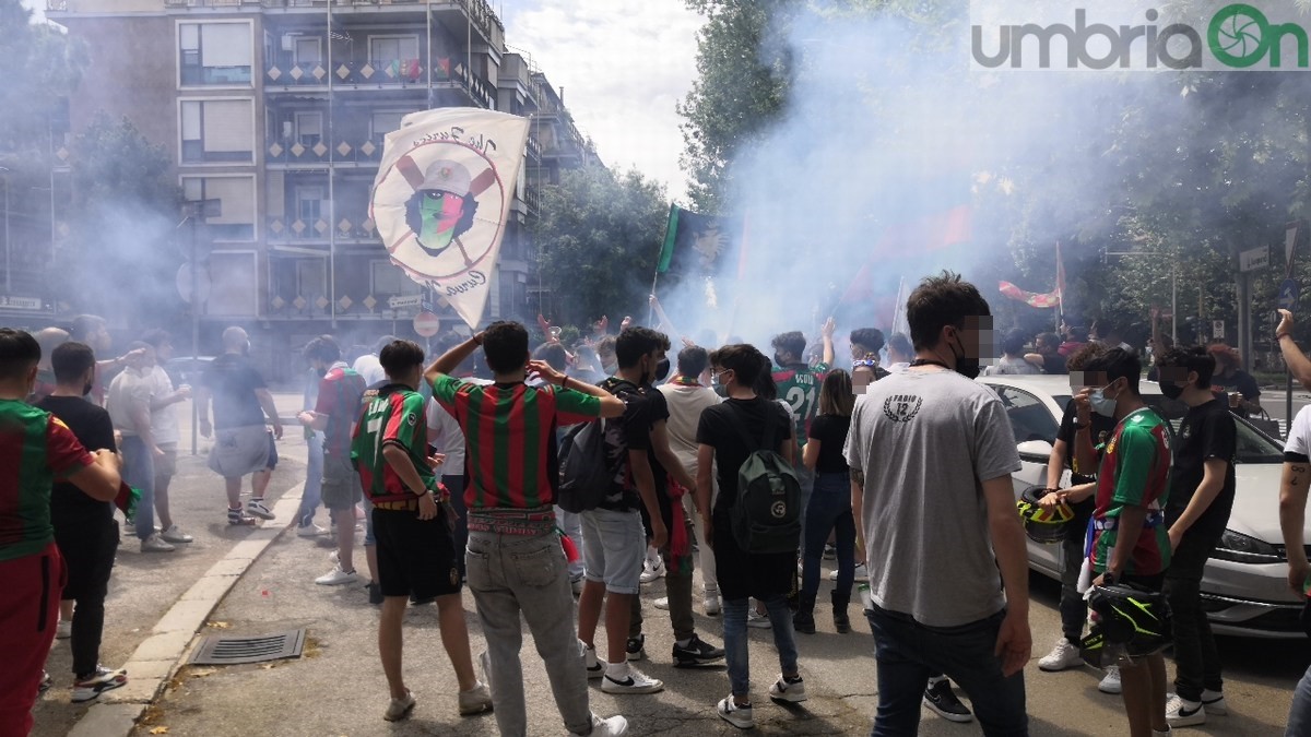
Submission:
[[[330,354],[330,349],[320,349]],[[437,483],[433,468],[440,458],[427,455],[427,421],[423,397],[416,391],[423,380],[423,349],[412,341],[395,341],[378,355],[388,383],[364,393],[364,412],[350,443],[350,459],[359,469],[361,485],[372,500],[374,534],[378,536],[378,581],[383,593],[383,614],[378,620],[378,649],[391,690],[391,703],[383,715],[397,721],[414,708],[414,695],[405,687],[401,673],[402,624],[410,598],[437,601],[442,644],[451,658],[459,682],[461,716],[492,708],[488,687],[473,673],[469,632],[460,606],[459,551],[451,539],[455,526],[448,492]],[[340,370],[340,368],[338,368]],[[346,389],[347,382],[341,388]],[[320,389],[320,401],[325,392]],[[353,391],[353,389],[350,389]],[[315,413],[345,418],[342,401]],[[345,420],[349,428],[349,420]],[[325,450],[332,443],[325,443]],[[325,459],[325,471],[329,463]],[[330,496],[324,487],[324,497]],[[354,502],[334,502],[334,508],[354,510]],[[353,513],[351,513],[353,514]],[[354,521],[338,522],[338,528],[354,528]]]

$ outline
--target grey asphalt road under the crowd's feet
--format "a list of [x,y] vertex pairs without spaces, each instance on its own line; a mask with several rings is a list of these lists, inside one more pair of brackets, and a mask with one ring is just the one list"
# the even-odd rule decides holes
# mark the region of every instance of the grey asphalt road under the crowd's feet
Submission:
[[[1303,401],[1307,399],[1303,396]],[[299,396],[278,395],[284,417],[296,409]],[[186,429],[184,429],[184,434]],[[185,441],[184,441],[185,443]],[[304,475],[304,442],[288,430],[279,445],[282,463],[270,497],[299,493]],[[202,452],[207,446],[202,447]],[[108,602],[102,661],[117,665],[146,639],[151,626],[214,560],[231,549],[246,532],[223,519],[222,483],[203,467],[203,455],[184,456],[182,472],[173,492],[174,517],[197,536],[190,548],[177,553],[140,553],[135,540],[119,549]],[[325,519],[320,519],[325,523]],[[170,736],[372,736],[372,734],[496,734],[490,715],[459,717],[455,679],[442,649],[437,612],[431,606],[412,607],[406,615],[408,681],[420,699],[412,719],[401,724],[382,720],[387,687],[378,662],[378,610],[363,589],[316,586],[313,578],[330,568],[326,540],[307,540],[291,532],[279,536],[245,572],[210,616],[201,635],[258,635],[305,627],[304,657],[264,665],[185,666],[156,700],[135,734]],[[944,551],[944,555],[949,555]],[[361,552],[362,556],[362,552]],[[359,559],[362,561],[362,557]],[[949,581],[941,585],[950,586]],[[827,601],[825,581],[819,601]],[[1030,624],[1033,660],[1041,657],[1059,632],[1057,586],[1032,578]],[[666,690],[657,695],[615,696],[591,688],[598,713],[624,713],[632,734],[734,734],[738,730],[714,713],[714,703],[728,692],[722,666],[676,670],[670,665],[673,633],[665,612],[652,606],[663,595],[663,584],[644,586],[646,650],[650,661],[640,664],[661,678]],[[484,647],[472,598],[465,595],[465,620],[477,653]],[[852,608],[855,614],[855,607]],[[827,608],[817,607],[819,633],[798,635],[801,671],[810,700],[797,708],[773,706],[764,691],[777,677],[777,660],[768,631],[753,629],[751,678],[762,734],[868,734],[877,706],[873,639],[861,618],[855,631],[838,635]],[[700,635],[722,643],[717,618],[699,607]],[[562,734],[560,717],[549,695],[540,660],[524,632],[523,664],[530,724],[534,734]],[[1222,639],[1226,664],[1226,695],[1231,713],[1211,717],[1197,733],[1270,736],[1282,734],[1291,690],[1307,664],[1311,643]],[[37,708],[37,736],[64,734],[85,707],[68,702],[67,641],[56,641],[50,658],[56,687]],[[131,674],[128,674],[131,677]],[[1046,674],[1030,662],[1025,670],[1032,733],[1038,736],[1126,733],[1117,696],[1096,690],[1100,674],[1091,669]],[[924,711],[922,734],[978,734],[977,724],[947,723]]]

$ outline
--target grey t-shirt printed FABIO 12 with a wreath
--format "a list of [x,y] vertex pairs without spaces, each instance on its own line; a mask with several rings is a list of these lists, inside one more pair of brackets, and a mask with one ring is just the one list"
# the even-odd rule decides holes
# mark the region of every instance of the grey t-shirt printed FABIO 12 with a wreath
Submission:
[[1002,610],[982,481],[1020,469],[996,392],[945,370],[907,370],[856,399],[843,448],[865,473],[874,603],[957,627]]

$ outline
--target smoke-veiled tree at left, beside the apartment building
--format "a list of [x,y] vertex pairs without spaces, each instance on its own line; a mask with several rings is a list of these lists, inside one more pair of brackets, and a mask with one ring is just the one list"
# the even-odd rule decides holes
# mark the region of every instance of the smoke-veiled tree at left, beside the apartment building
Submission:
[[100,114],[73,142],[73,215],[60,262],[75,268],[76,308],[151,325],[180,313],[181,193],[170,167],[168,151],[127,118]]

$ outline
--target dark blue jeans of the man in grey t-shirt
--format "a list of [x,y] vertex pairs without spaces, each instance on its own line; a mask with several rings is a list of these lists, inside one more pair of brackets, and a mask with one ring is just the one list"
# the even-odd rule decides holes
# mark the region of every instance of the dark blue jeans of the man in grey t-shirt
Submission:
[[878,712],[873,737],[901,737],[919,729],[919,707],[933,671],[941,671],[970,696],[987,736],[1027,736],[1024,671],[1002,675],[994,654],[1004,611],[960,627],[927,627],[909,615],[867,610],[878,661]]

